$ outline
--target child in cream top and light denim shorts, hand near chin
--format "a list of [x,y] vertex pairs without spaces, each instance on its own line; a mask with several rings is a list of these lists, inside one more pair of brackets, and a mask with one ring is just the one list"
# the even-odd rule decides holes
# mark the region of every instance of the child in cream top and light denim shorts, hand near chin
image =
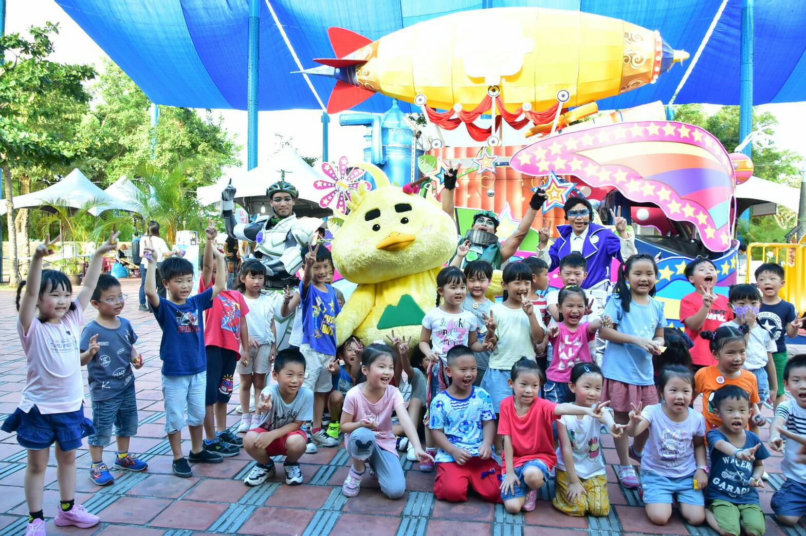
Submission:
[[534,361],[534,344],[541,343],[545,336],[543,321],[528,298],[532,269],[523,262],[510,262],[504,269],[503,280],[507,299],[490,309],[487,342],[497,343],[481,381],[482,388],[492,397],[496,413],[501,411],[501,401],[512,396],[513,365],[521,357]]

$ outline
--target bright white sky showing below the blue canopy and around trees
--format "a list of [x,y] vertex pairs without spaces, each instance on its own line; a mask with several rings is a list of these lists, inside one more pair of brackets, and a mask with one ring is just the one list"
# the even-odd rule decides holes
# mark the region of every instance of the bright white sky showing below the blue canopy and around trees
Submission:
[[[59,23],[60,32],[54,39],[56,52],[52,60],[78,63],[96,64],[100,66],[106,54],[89,36],[70,19],[64,10],[53,0],[9,0],[6,5],[6,32],[24,32],[31,25],[41,26],[45,22]],[[322,96],[326,98],[326,96]],[[706,111],[713,111],[715,106],[706,107]],[[778,118],[779,125],[775,132],[775,145],[782,149],[795,150],[806,155],[806,137],[803,136],[803,126],[806,122],[806,102],[762,105],[759,111],[771,111]],[[233,134],[243,149],[240,158],[244,166],[247,162],[247,113],[240,110],[216,110],[221,114],[222,126]],[[322,119],[321,112],[316,110],[287,110],[276,112],[260,112],[260,130],[258,134],[258,163],[266,163],[270,156],[276,152],[280,138],[289,140],[300,155],[322,156]],[[460,127],[453,133],[448,133],[448,145],[476,145],[463,134]],[[350,161],[363,159],[364,147],[368,143],[364,140],[366,129],[364,126],[339,126],[338,116],[330,117],[330,143],[329,159],[336,160],[346,155]],[[434,135],[433,130],[426,130]],[[507,144],[522,143],[522,132],[505,131],[504,140]],[[727,147],[729,152],[733,147]],[[234,170],[225,170],[227,172]]]

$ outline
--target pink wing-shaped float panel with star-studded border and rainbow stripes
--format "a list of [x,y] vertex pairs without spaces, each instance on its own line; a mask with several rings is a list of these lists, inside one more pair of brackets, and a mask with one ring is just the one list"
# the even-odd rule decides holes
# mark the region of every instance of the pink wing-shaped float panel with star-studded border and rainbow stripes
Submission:
[[695,225],[711,251],[729,249],[733,165],[699,126],[625,122],[559,134],[519,150],[510,165],[526,175],[575,175],[591,188],[616,187],[629,200]]

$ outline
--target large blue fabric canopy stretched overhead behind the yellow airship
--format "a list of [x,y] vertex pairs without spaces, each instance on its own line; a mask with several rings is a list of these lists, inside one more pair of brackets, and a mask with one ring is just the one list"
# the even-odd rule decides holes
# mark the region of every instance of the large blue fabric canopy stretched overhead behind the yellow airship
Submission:
[[[248,0],[56,0],[70,17],[158,104],[191,108],[247,108]],[[277,27],[285,30],[303,68],[332,57],[327,28],[344,27],[378,39],[401,27],[459,10],[542,6],[582,10],[659,30],[672,47],[692,56],[721,0],[264,0],[260,10],[261,110],[320,109]],[[755,2],[754,104],[806,101],[806,3]],[[729,0],[708,46],[677,103],[739,102],[742,0]],[[468,28],[490,35],[495,28]],[[485,37],[481,37],[484,39]],[[688,60],[691,61],[691,60]],[[599,102],[600,109],[668,102],[685,68],[657,84]],[[323,102],[334,80],[311,76]],[[376,95],[355,109],[383,112]],[[401,103],[409,111],[409,105]]]

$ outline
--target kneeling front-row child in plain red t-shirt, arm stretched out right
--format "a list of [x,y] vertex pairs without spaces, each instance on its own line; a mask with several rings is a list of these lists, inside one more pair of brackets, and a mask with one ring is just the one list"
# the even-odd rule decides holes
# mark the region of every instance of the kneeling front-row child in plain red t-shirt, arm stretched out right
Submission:
[[504,436],[505,476],[501,500],[509,513],[534,510],[538,489],[557,463],[551,423],[561,415],[589,415],[603,418],[602,407],[555,404],[538,397],[542,372],[526,357],[512,366],[509,387],[514,395],[501,401],[498,434]]

